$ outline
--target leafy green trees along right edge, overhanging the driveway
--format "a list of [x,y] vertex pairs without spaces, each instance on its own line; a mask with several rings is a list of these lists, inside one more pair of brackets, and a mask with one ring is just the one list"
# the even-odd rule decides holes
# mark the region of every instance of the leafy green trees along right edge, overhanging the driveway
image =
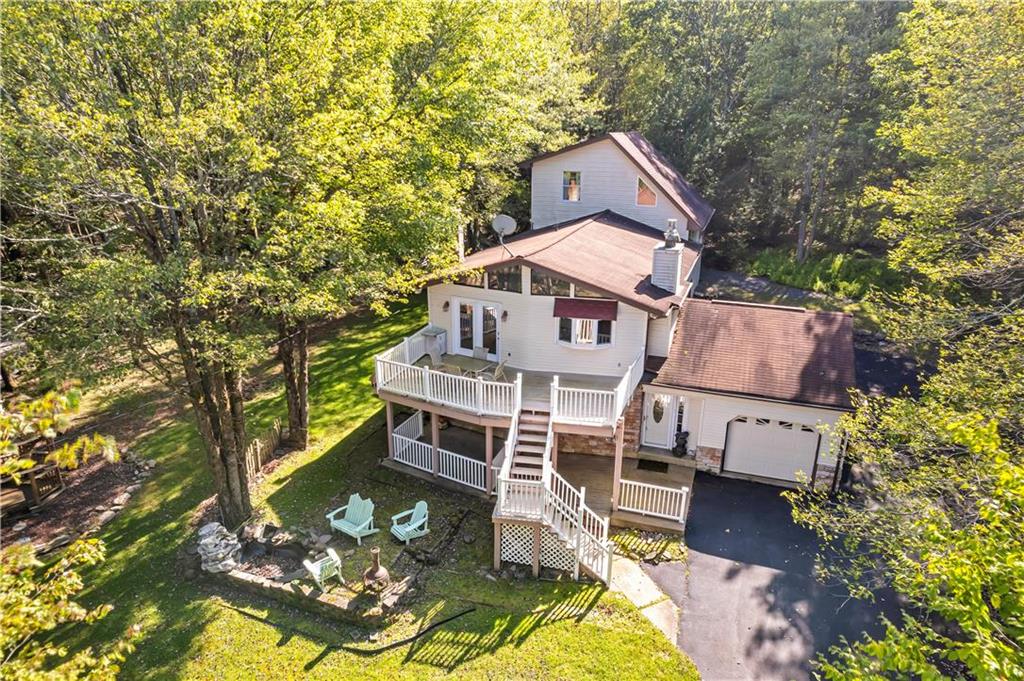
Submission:
[[882,132],[907,176],[871,189],[891,260],[924,285],[882,302],[891,336],[938,352],[920,398],[841,422],[853,480],[792,495],[826,576],[906,601],[877,639],[833,649],[831,679],[1024,678],[1024,11],[914,4],[874,60],[898,104]]

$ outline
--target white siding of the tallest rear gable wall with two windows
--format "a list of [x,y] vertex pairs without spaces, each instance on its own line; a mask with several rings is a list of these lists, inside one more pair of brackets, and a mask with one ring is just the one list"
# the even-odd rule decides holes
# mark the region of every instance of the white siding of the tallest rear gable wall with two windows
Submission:
[[[562,171],[579,170],[580,201],[562,201]],[[603,210],[639,220],[664,230],[667,220],[679,220],[679,233],[685,235],[686,216],[644,177],[657,195],[655,206],[637,206],[637,177],[640,170],[610,139],[565,152],[534,164],[530,176],[530,220],[532,227],[544,227]]]

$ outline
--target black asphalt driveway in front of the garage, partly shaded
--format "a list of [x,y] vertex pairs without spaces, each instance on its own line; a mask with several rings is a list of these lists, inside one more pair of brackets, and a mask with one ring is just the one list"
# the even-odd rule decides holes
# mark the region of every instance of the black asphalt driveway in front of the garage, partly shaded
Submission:
[[688,564],[645,567],[682,609],[678,645],[705,679],[807,679],[817,652],[896,616],[891,595],[868,604],[814,579],[817,541],[780,492],[698,473]]

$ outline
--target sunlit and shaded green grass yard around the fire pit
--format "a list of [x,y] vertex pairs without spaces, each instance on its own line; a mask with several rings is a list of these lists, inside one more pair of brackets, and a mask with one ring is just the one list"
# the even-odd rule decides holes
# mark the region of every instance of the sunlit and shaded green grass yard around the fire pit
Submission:
[[[313,444],[274,469],[255,499],[268,520],[326,529],[324,513],[350,493],[374,498],[383,529],[346,562],[349,579],[366,567],[370,546],[380,545],[391,566],[400,547],[387,531],[388,518],[417,499],[430,504],[435,527],[461,520],[460,534],[473,541],[460,539],[451,556],[429,568],[408,611],[371,632],[181,577],[196,509],[211,494],[205,455],[187,410],[151,401],[152,386],[129,384],[94,395],[90,408],[106,415],[135,410],[131,425],[119,426],[120,438],[158,467],[104,526],[108,560],[87,578],[86,602],[115,609],[88,633],[70,630],[72,644],[102,643],[141,625],[123,674],[132,679],[697,678],[690,661],[615,594],[571,582],[486,579],[489,505],[376,465],[386,439],[383,409],[370,387],[373,355],[423,323],[422,304],[386,320],[355,316],[313,348]],[[283,413],[283,395],[266,379],[249,406],[250,434]],[[412,645],[367,652],[467,607],[476,609]]]

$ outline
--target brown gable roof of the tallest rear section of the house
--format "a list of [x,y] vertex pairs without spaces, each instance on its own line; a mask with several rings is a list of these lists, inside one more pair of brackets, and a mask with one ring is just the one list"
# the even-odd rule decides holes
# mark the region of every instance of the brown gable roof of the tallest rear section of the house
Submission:
[[615,146],[633,162],[633,165],[643,171],[669,198],[669,201],[693,220],[701,230],[708,226],[712,215],[715,214],[715,209],[703,200],[696,187],[686,181],[675,166],[639,132],[608,132],[554,152],[542,154],[520,164],[520,167],[528,168],[538,161],[550,159],[605,139],[614,142]]

